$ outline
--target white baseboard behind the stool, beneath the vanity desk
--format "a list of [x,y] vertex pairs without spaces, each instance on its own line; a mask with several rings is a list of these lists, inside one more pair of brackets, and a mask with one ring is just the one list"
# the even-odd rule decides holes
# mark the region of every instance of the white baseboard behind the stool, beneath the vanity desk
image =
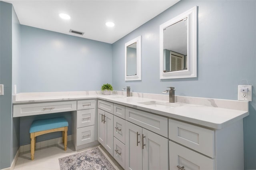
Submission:
[[[67,141],[72,140],[72,135],[68,135]],[[52,146],[54,144],[62,143],[62,137],[54,138],[50,140],[44,140],[42,142],[36,142],[36,149]],[[30,144],[20,146],[20,153],[30,151]]]

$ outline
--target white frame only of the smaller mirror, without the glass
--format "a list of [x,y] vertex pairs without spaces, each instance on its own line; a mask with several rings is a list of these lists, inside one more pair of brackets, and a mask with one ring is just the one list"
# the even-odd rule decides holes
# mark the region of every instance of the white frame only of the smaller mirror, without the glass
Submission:
[[[126,49],[129,45],[133,44],[133,43],[137,43],[137,53],[136,53],[136,57],[137,57],[137,65],[136,65],[136,74],[137,75],[130,75],[127,76],[126,74]],[[141,80],[141,36],[138,36],[137,38],[134,38],[133,40],[125,43],[124,45],[124,53],[125,53],[125,59],[124,59],[124,64],[125,64],[125,81],[136,81],[136,80]]]

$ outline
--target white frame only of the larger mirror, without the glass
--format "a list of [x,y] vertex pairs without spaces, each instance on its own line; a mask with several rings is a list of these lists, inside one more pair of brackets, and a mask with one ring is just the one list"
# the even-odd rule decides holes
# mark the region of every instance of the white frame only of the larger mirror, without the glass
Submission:
[[[175,24],[186,17],[188,18],[188,69],[164,73],[164,28]],[[160,79],[179,79],[191,77],[197,77],[197,6],[160,25]]]

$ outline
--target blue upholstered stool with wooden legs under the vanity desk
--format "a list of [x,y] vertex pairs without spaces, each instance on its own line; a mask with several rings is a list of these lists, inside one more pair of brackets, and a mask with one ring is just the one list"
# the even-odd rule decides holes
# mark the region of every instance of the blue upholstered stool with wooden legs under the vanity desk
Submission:
[[67,150],[68,121],[64,117],[33,121],[29,130],[31,138],[31,160],[34,160],[36,136],[57,131],[62,131],[64,150]]

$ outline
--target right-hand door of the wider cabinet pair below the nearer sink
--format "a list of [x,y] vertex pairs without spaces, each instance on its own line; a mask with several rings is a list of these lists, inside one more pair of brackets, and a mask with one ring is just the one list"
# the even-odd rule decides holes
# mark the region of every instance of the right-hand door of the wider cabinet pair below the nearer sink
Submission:
[[168,139],[143,128],[142,149],[144,170],[168,169]]

